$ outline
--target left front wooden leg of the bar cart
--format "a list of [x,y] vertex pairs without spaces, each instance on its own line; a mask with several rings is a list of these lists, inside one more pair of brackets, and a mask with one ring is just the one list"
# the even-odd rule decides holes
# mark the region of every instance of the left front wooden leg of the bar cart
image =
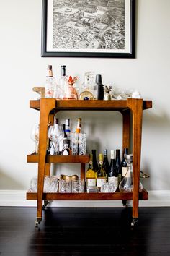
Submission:
[[[40,139],[39,139],[39,160],[38,160],[38,185],[37,185],[37,221],[35,226],[40,224],[42,220],[42,197],[45,172],[50,170],[49,166],[45,164],[46,150],[47,150],[47,133],[48,133],[48,119],[50,111],[55,108],[55,100],[48,101],[48,99],[40,99]],[[45,170],[46,169],[46,170]]]

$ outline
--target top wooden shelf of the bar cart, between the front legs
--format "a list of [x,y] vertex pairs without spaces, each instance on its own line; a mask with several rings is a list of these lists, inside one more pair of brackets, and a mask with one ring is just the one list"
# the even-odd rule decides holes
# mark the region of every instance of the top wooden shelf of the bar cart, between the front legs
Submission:
[[100,100],[55,100],[54,98],[47,99],[41,98],[41,100],[31,100],[30,108],[40,110],[40,101],[47,101],[53,106],[53,109],[58,110],[117,110],[122,111],[126,108],[130,108],[131,103],[135,101],[143,101],[143,110],[152,108],[152,101],[144,101],[143,99],[128,98],[127,100],[112,100],[112,101],[100,101]]

